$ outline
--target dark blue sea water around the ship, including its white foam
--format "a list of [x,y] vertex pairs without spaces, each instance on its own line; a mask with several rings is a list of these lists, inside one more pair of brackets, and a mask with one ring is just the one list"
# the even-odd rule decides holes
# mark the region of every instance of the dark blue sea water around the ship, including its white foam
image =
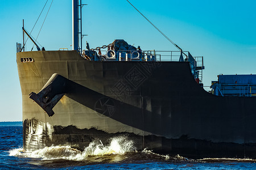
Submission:
[[51,146],[32,152],[22,148],[22,125],[0,123],[1,169],[256,169],[252,159],[187,159],[183,156],[137,151],[125,136],[109,139],[104,146],[93,141],[76,150],[70,146]]

